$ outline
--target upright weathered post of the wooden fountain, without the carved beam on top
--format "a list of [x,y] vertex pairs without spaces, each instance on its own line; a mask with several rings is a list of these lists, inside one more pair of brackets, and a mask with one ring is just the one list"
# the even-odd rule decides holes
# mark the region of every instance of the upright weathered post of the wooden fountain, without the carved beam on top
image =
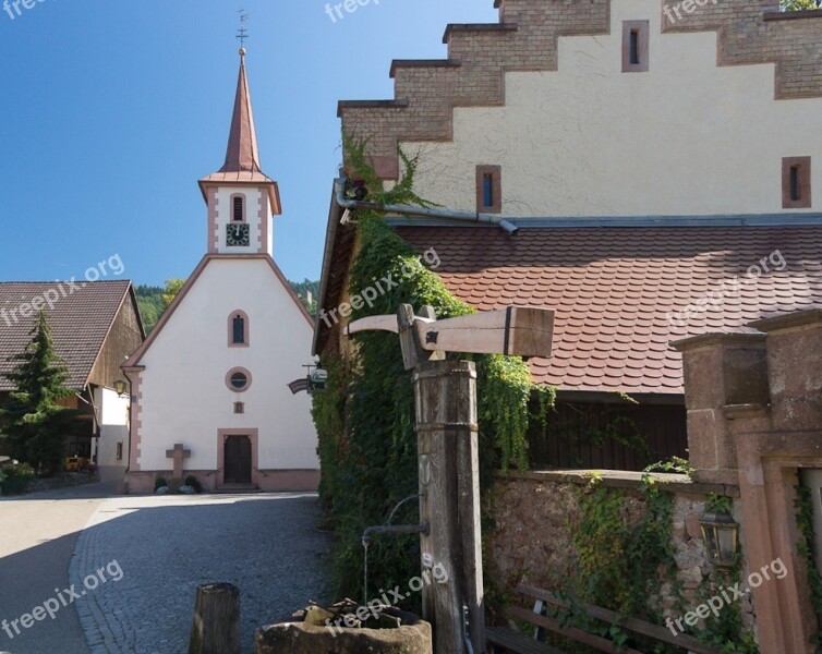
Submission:
[[[485,652],[480,476],[476,424],[476,370],[470,361],[428,361],[414,372],[420,457],[423,618],[434,628],[436,654],[467,652],[463,607],[476,654]],[[442,566],[448,581],[432,573]],[[437,576],[440,577],[440,576]]]

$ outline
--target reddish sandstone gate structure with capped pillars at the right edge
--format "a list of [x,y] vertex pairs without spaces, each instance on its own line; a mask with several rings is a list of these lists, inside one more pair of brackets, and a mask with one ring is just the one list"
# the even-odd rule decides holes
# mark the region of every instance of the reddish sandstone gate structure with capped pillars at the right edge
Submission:
[[751,588],[759,651],[812,654],[817,616],[794,499],[797,471],[822,468],[822,311],[750,327],[765,334],[674,343],[684,353],[691,465],[700,481],[738,481],[746,576],[776,559],[788,570]]

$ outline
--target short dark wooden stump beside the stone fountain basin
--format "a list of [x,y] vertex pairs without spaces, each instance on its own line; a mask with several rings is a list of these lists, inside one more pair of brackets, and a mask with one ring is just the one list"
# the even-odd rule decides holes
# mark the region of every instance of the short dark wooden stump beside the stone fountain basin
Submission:
[[197,586],[189,654],[240,654],[240,589],[235,585]]

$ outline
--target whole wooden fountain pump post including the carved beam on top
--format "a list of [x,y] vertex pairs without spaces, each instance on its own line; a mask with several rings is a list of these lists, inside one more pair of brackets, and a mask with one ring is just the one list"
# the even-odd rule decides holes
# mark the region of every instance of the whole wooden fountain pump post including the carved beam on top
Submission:
[[[446,360],[446,352],[549,356],[554,312],[510,306],[437,320],[431,306],[420,315],[403,304],[392,316],[370,316],[348,334],[373,329],[399,334],[402,362],[414,371],[416,444],[420,464],[423,617],[434,628],[435,654],[485,652],[485,611],[480,533],[480,456],[476,368]],[[442,566],[448,580],[437,583]],[[466,629],[466,610],[469,628]],[[467,633],[468,632],[468,633]]]

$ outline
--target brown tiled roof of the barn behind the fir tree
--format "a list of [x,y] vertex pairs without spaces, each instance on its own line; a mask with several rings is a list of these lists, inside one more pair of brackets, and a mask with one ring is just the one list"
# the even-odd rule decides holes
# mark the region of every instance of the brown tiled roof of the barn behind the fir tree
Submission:
[[[55,348],[69,368],[68,386],[85,387],[106,336],[129,293],[131,282],[96,281],[80,283],[72,292],[63,283],[65,296],[47,307]],[[35,316],[21,318],[19,307],[49,291],[60,293],[60,282],[0,282],[0,390],[13,390],[4,374],[15,363],[9,358],[23,352],[32,340]],[[3,310],[5,313],[2,313]],[[15,311],[15,314],[12,314]],[[17,319],[14,319],[17,317]]]

